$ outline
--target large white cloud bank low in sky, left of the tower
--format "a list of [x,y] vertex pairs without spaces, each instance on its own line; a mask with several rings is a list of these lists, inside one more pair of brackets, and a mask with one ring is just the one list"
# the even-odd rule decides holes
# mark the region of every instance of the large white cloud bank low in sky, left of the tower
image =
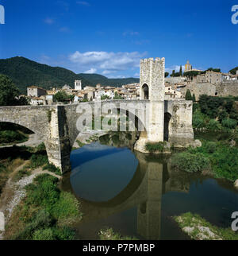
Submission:
[[145,53],[140,52],[79,52],[69,56],[72,64],[80,68],[97,68],[106,72],[123,71],[139,68],[140,59]]

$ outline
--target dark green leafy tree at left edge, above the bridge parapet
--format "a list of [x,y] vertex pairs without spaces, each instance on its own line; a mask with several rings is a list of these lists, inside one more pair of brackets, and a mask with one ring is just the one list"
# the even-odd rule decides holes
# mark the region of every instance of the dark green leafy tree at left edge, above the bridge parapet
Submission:
[[17,105],[20,91],[8,76],[0,75],[0,106]]

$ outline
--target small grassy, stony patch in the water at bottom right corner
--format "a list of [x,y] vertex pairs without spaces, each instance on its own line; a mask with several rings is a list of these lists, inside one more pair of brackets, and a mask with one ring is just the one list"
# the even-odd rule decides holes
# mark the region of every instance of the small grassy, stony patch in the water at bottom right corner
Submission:
[[[185,227],[191,227],[190,232],[186,232],[191,239],[195,240],[238,240],[237,232],[232,231],[231,227],[221,228],[213,226],[211,223],[203,219],[200,215],[192,214],[190,212],[184,213],[180,216],[174,217],[178,226],[181,227],[183,231]],[[205,227],[205,228],[201,228]],[[209,230],[208,230],[209,228]],[[211,231],[211,233],[209,233]],[[204,235],[204,236],[203,236]]]

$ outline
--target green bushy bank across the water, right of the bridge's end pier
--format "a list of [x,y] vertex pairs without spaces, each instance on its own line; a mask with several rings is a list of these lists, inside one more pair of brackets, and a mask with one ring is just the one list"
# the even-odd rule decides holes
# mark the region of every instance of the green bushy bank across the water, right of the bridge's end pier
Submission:
[[231,147],[227,141],[203,141],[202,147],[175,153],[171,157],[171,165],[175,169],[189,173],[208,171],[216,178],[234,182],[238,179],[237,155],[238,147]]

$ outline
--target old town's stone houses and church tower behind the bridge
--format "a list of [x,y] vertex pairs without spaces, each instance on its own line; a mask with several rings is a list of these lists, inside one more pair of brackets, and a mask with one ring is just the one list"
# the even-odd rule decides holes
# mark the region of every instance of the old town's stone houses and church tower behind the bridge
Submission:
[[[190,72],[196,72],[198,75],[186,76],[186,73]],[[166,100],[185,99],[187,90],[190,90],[192,95],[194,94],[195,99],[199,99],[200,95],[221,97],[238,95],[238,71],[236,71],[236,75],[232,75],[232,73],[214,72],[213,70],[204,72],[193,69],[188,60],[185,64],[184,73],[180,75],[165,78]],[[51,105],[54,103],[54,95],[59,91],[64,91],[67,95],[73,96],[71,99],[66,100],[68,103],[106,99],[140,99],[140,83],[125,84],[122,87],[105,87],[98,83],[96,87],[82,87],[81,80],[75,80],[74,87],[65,84],[62,88],[56,86],[50,90],[33,85],[27,87],[27,97],[33,106]]]

